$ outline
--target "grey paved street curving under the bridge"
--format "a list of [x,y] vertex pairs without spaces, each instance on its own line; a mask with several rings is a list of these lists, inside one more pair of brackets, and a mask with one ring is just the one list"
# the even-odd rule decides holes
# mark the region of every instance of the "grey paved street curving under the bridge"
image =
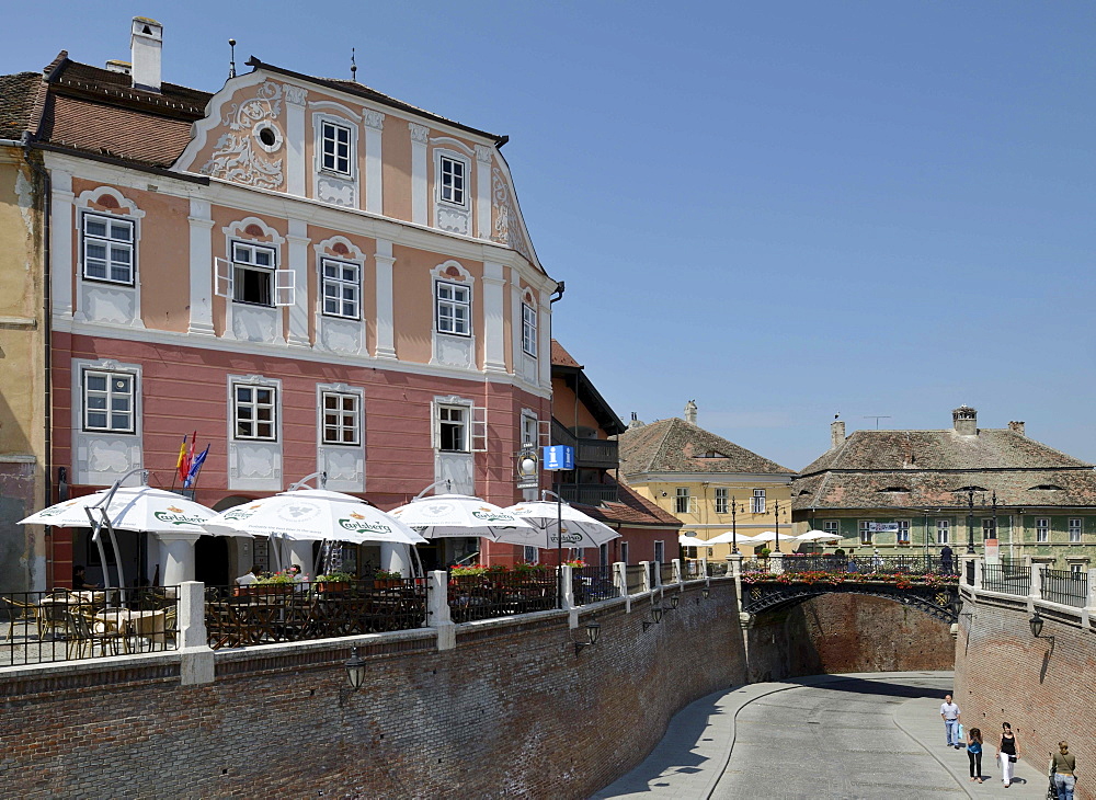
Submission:
[[1042,798],[1020,763],[1001,785],[989,733],[984,784],[943,744],[948,673],[822,675],[710,695],[677,715],[639,767],[595,798]]

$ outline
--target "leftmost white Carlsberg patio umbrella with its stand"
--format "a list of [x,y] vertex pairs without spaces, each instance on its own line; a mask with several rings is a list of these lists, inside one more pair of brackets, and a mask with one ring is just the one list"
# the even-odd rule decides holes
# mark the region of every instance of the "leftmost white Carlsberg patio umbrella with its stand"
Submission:
[[[137,471],[137,470],[134,470]],[[126,476],[123,477],[124,480]],[[115,484],[92,494],[55,503],[25,519],[21,525],[53,525],[65,528],[92,529],[92,540],[99,548],[99,559],[103,568],[103,582],[110,583],[106,552],[103,549],[102,530],[106,528],[114,552],[118,552],[115,530],[137,530],[150,534],[205,534],[203,523],[216,515],[210,508],[186,500],[174,492],[153,489],[149,485],[122,487]],[[237,535],[237,534],[229,534]],[[246,534],[244,534],[246,535]],[[118,585],[125,586],[122,559],[115,559]]]

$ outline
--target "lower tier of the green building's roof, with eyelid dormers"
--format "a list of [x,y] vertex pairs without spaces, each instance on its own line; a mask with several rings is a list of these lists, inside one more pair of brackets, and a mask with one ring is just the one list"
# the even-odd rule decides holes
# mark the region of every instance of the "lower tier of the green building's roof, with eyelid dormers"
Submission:
[[[1044,488],[1040,488],[1044,487]],[[1057,487],[1057,488],[1049,488]],[[791,484],[792,508],[966,508],[974,488],[978,508],[994,492],[1001,506],[1096,505],[1096,472],[1053,470],[825,472]],[[907,490],[907,491],[895,491]],[[979,516],[982,512],[978,511]]]

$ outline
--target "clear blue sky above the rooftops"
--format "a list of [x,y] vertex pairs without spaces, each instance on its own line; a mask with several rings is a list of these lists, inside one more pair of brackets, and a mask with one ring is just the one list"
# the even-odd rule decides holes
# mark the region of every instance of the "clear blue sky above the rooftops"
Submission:
[[[24,14],[24,19],[19,19]],[[83,2],[0,72],[128,58],[216,90],[227,39],[509,134],[555,333],[626,419],[790,468],[849,431],[984,427],[1096,461],[1096,4]]]

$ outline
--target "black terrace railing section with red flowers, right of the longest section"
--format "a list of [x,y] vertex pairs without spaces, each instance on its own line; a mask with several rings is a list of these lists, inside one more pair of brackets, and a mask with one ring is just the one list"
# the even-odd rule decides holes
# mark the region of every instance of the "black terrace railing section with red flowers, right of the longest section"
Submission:
[[559,607],[555,568],[449,575],[449,616],[454,622],[491,619]]

